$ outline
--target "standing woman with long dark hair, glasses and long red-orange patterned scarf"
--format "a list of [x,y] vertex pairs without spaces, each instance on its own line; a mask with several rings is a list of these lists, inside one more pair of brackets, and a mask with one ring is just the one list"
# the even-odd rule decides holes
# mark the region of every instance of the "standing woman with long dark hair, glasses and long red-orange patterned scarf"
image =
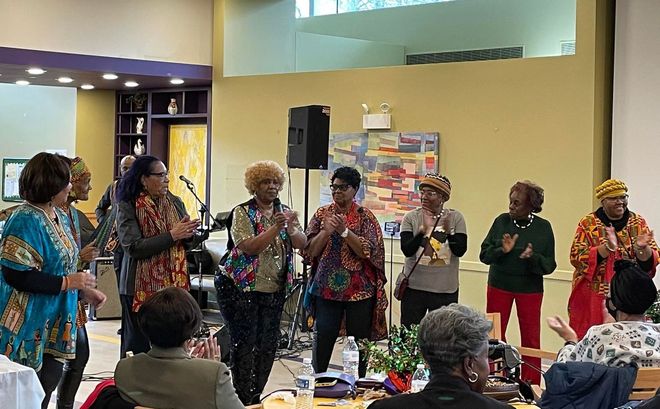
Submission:
[[[117,234],[124,248],[119,282],[122,303],[121,357],[149,351],[137,311],[166,287],[190,288],[186,263],[188,239],[199,220],[190,220],[181,199],[168,189],[170,179],[160,159],[143,155],[117,188]],[[192,241],[192,240],[191,240]]]

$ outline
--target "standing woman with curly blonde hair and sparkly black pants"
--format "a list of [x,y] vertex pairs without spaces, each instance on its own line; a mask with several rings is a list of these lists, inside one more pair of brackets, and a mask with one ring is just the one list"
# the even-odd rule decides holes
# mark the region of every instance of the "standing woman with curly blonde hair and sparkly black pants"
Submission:
[[231,370],[244,404],[259,402],[273,366],[286,291],[293,282],[293,249],[307,237],[296,212],[281,204],[284,171],[273,161],[245,171],[252,199],[232,211],[224,271],[216,276],[220,310],[231,335]]

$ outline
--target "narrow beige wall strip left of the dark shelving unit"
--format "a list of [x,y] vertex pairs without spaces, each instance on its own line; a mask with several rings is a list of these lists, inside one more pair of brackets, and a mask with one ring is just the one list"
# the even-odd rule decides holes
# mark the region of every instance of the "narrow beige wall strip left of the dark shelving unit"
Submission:
[[96,204],[112,182],[115,151],[115,92],[78,91],[76,105],[76,155],[92,172],[89,200],[76,206],[94,212]]

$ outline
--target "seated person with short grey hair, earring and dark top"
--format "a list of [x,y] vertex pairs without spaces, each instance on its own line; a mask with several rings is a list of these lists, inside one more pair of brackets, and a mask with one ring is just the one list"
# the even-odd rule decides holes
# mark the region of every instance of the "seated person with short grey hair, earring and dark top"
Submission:
[[490,373],[491,326],[483,314],[461,304],[429,312],[420,324],[418,342],[431,368],[430,382],[419,393],[382,399],[369,408],[511,408],[481,394]]

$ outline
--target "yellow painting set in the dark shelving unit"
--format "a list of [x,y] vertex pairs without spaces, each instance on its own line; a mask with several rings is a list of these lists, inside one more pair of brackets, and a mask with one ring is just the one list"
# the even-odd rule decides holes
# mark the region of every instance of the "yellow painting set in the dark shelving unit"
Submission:
[[170,191],[183,200],[192,219],[199,217],[199,204],[179,176],[190,179],[197,196],[206,200],[206,125],[170,126],[168,165]]

